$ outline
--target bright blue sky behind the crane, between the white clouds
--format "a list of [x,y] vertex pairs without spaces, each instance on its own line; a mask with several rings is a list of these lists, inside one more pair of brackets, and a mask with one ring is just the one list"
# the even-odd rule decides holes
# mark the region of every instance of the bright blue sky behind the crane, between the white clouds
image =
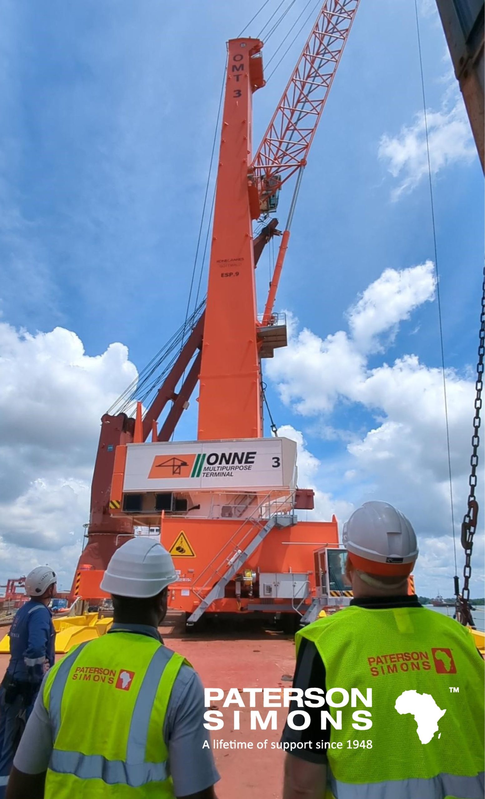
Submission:
[[[121,342],[129,360],[142,368],[185,316],[225,42],[239,34],[260,0],[247,0],[244,11],[241,4],[222,0],[172,6],[153,0],[68,5],[2,0],[0,5],[2,321],[33,336],[66,328],[92,359]],[[270,0],[248,33],[257,35],[266,11],[276,5]],[[304,6],[296,0],[265,47],[264,61]],[[453,133],[447,123],[459,108],[459,94],[432,2],[421,2],[419,12],[427,108],[441,113],[435,141],[443,163],[433,185],[445,359],[457,370],[457,380],[465,380],[476,360],[483,173],[476,154],[470,155],[470,141],[443,143]],[[309,29],[310,22],[304,33]],[[255,95],[255,147],[304,33]],[[296,316],[298,329],[307,327],[322,340],[347,330],[348,308],[385,269],[400,272],[434,260],[427,177],[419,179],[412,159],[393,175],[383,150],[383,137],[402,141],[403,129],[412,129],[422,111],[414,4],[362,0],[305,170],[276,300],[277,308]],[[411,188],[393,199],[406,176]],[[281,224],[287,203],[283,192]],[[267,276],[264,255],[258,268],[261,300]],[[411,353],[427,368],[439,367],[431,297],[413,305],[408,318],[388,333],[383,347],[368,353],[366,368]],[[344,512],[368,497],[371,483],[376,491],[380,483],[368,474],[353,487],[343,483],[340,470],[354,468],[348,440],[332,439],[333,434],[328,440],[328,428],[364,438],[389,413],[342,394],[330,414],[302,415],[295,402],[281,400],[281,381],[289,379],[284,368],[267,379],[276,423],[303,433],[320,462],[312,472],[316,485]],[[101,403],[124,387],[123,375],[109,385],[106,373],[105,381],[96,418],[107,407]],[[42,394],[42,386],[32,391]],[[191,409],[177,437],[193,435]],[[456,454],[457,475],[466,469],[467,442]],[[24,466],[20,471],[37,479]],[[82,466],[66,455],[63,474],[89,483],[89,455]],[[74,552],[78,519],[71,524]],[[425,533],[445,535],[444,528],[436,532],[429,525]],[[8,535],[5,540],[13,543]],[[23,546],[29,542],[27,537]],[[429,590],[447,590],[444,582],[438,585],[445,578],[443,566],[427,583]]]

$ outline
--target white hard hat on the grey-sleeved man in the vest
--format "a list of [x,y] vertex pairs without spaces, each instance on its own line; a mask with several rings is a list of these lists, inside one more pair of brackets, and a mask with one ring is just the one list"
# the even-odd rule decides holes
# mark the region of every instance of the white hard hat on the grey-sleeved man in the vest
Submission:
[[157,541],[137,536],[113,554],[101,581],[102,590],[121,597],[148,598],[177,579],[173,560]]

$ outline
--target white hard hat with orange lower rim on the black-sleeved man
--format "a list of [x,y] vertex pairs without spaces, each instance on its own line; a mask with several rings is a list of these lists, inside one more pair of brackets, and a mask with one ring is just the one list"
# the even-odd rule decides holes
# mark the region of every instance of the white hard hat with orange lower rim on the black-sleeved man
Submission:
[[366,502],[344,524],[342,543],[356,569],[411,574],[418,543],[411,522],[387,502]]

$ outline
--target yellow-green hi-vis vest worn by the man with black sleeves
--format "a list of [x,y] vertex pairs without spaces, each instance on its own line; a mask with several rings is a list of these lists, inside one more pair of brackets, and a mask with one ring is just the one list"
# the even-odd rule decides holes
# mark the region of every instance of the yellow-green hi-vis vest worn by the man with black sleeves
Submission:
[[[297,648],[302,638],[324,661],[327,692],[349,696],[341,729],[330,727],[342,747],[327,749],[327,799],[483,799],[483,660],[466,629],[422,607],[350,606],[300,630]],[[372,707],[352,707],[352,688],[372,688]],[[370,729],[352,719],[362,710]]]

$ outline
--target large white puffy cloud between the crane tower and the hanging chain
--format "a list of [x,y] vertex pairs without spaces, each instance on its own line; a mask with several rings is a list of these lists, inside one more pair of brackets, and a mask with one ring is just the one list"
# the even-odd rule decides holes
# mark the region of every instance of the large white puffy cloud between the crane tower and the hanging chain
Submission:
[[[385,348],[400,322],[434,295],[430,261],[400,272],[386,269],[349,309],[348,332],[321,338],[308,329],[299,331],[293,320],[288,348],[275,352],[266,371],[281,400],[302,417],[304,433],[292,428],[290,435],[299,445],[300,476],[322,492],[326,510],[340,502],[337,515],[343,522],[346,509],[368,499],[396,504],[422,540],[423,565],[417,574],[423,574],[427,584],[443,574],[443,585],[436,590],[449,593],[444,574],[449,576],[454,564],[443,374],[414,354],[402,355],[393,363],[384,360]],[[375,363],[379,352],[382,363],[370,368],[369,356]],[[475,384],[453,369],[447,369],[446,381],[460,570],[459,526],[467,501]],[[304,436],[336,440],[327,431],[336,429],[334,415],[343,407],[360,414],[360,428],[362,420],[372,422],[365,422],[366,428],[350,440],[340,438],[339,459],[335,454],[316,459]],[[303,487],[301,479],[299,483]],[[483,549],[481,538],[477,547]],[[434,570],[430,570],[433,562]],[[482,571],[475,570],[474,579]],[[477,590],[483,590],[482,586]]]

